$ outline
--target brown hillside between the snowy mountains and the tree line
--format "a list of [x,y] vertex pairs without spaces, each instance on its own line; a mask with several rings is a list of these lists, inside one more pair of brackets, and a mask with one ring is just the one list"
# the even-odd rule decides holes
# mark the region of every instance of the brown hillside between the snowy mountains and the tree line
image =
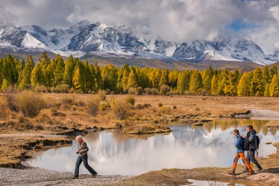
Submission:
[[[40,52],[21,52],[21,53],[13,53],[13,51],[1,52],[0,57],[5,57],[8,54],[14,55],[17,58],[27,59],[27,56],[31,54],[33,56],[33,60],[38,62],[38,57],[41,55]],[[47,56],[51,59],[56,56],[54,53],[47,53]],[[64,60],[67,60],[67,57],[62,56]],[[148,59],[148,58],[140,58],[137,56],[130,56],[129,58],[118,57],[117,55],[107,55],[107,56],[98,56],[98,55],[84,55],[80,57],[81,60],[88,60],[89,63],[98,62],[99,66],[108,65],[112,63],[117,68],[124,66],[124,64],[129,63],[130,65],[138,65],[140,67],[151,67],[151,68],[159,68],[159,69],[178,69],[181,71],[184,70],[205,70],[208,66],[212,66],[212,68],[217,69],[227,69],[234,70],[238,69],[240,71],[247,70],[253,71],[256,67],[263,68],[263,65],[249,63],[249,62],[241,62],[241,61],[223,61],[223,60],[188,60],[188,61],[173,61],[173,60],[156,60],[156,59]],[[193,63],[195,62],[195,63]],[[278,65],[278,63],[275,63]],[[277,67],[278,68],[278,67]]]

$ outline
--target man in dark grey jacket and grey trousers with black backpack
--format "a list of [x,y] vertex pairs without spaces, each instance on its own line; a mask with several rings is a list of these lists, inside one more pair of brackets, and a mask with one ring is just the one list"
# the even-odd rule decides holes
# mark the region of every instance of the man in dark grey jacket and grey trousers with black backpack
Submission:
[[[257,150],[257,132],[253,129],[253,126],[247,126],[247,136],[243,135],[243,138],[247,138],[249,141],[249,150],[246,154],[246,160],[248,163],[253,162],[257,166],[258,170],[262,170],[263,168],[260,166],[259,162],[255,159],[255,152]],[[245,170],[242,172],[249,172],[248,167],[245,167]]]

